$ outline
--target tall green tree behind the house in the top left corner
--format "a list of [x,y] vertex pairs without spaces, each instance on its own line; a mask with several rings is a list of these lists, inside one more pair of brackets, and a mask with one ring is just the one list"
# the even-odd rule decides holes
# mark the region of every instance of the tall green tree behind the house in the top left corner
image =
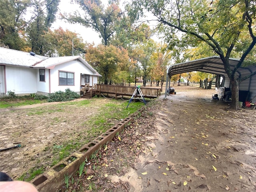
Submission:
[[0,42],[8,48],[24,50],[26,42],[23,26],[24,15],[30,0],[0,0]]

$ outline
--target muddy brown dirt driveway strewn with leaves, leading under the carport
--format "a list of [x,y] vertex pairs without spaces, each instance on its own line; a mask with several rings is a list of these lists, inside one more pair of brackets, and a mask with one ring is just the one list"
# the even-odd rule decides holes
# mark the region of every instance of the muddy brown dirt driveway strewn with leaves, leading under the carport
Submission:
[[88,167],[84,182],[76,178],[68,191],[256,191],[256,110],[229,111],[212,100],[214,90],[175,88],[100,152],[101,168]]

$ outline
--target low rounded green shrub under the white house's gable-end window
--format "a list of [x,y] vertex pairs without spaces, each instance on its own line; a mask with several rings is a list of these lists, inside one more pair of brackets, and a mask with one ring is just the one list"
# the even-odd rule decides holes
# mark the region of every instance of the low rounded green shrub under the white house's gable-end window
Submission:
[[70,89],[66,89],[65,92],[57,91],[50,94],[50,96],[48,97],[48,102],[71,101],[77,98],[80,98],[80,95],[78,95],[74,91],[71,91]]

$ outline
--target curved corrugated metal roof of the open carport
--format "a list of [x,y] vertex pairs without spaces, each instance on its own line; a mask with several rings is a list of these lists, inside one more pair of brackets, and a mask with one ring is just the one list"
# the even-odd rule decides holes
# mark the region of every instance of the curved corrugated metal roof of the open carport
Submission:
[[[229,64],[231,66],[231,69],[234,69],[238,62],[239,59],[230,58]],[[254,72],[255,69],[256,66],[240,67],[238,68],[236,75],[238,78],[242,78],[243,76]],[[227,76],[226,71],[224,69],[224,64],[219,56],[210,56],[206,58],[174,64],[173,66],[170,66],[168,70],[168,76],[171,77],[176,74],[191,71],[200,71],[205,73]]]

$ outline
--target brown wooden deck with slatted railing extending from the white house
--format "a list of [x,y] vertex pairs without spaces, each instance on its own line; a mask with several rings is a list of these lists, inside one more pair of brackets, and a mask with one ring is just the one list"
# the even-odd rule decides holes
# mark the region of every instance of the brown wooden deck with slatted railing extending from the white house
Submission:
[[[130,87],[130,86],[97,84],[96,94],[97,95],[100,95],[101,93],[114,94],[115,97],[117,98],[117,96],[132,96],[135,89],[136,87]],[[140,90],[145,98],[157,98],[158,96],[160,96],[160,93],[161,93],[161,88],[140,87]]]

